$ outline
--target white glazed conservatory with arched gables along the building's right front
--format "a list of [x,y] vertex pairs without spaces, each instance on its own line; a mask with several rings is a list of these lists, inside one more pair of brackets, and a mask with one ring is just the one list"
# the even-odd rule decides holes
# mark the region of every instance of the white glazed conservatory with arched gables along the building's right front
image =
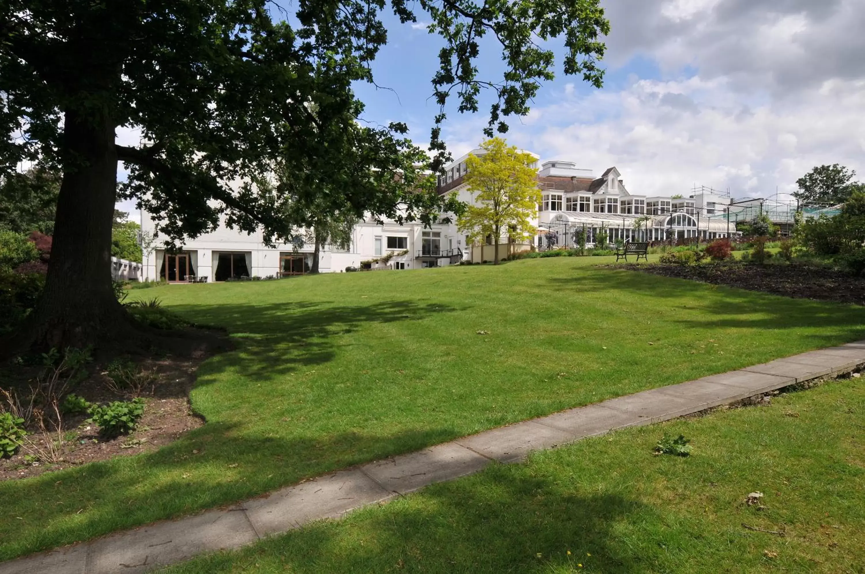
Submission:
[[538,246],[575,246],[580,233],[586,233],[586,245],[593,246],[601,233],[607,241],[664,241],[699,237],[711,241],[736,237],[735,226],[727,218],[700,214],[668,213],[662,215],[564,213],[541,221]]

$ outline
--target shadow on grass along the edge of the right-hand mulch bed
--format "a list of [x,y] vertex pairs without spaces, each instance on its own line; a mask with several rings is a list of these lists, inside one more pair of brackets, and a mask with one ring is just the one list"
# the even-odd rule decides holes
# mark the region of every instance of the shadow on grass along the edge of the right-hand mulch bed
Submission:
[[[580,268],[574,277],[553,277],[556,289],[577,292],[616,290],[633,297],[663,300],[667,309],[701,311],[674,320],[684,328],[801,329],[825,328],[807,335],[815,347],[865,338],[865,308],[841,303],[794,299],[759,291],[660,277],[639,271]],[[698,300],[695,302],[694,297]],[[687,300],[686,300],[687,299]],[[634,299],[628,305],[636,304]]]

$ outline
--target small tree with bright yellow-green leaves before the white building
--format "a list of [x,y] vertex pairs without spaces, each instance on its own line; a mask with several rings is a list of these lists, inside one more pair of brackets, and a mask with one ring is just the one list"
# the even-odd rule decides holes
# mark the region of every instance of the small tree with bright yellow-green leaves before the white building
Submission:
[[492,236],[493,263],[498,265],[498,245],[502,231],[514,241],[535,236],[532,219],[541,201],[541,189],[533,167],[537,159],[531,154],[509,146],[501,137],[481,144],[486,153],[469,154],[465,160],[465,184],[474,201],[459,216],[457,226],[473,243]]

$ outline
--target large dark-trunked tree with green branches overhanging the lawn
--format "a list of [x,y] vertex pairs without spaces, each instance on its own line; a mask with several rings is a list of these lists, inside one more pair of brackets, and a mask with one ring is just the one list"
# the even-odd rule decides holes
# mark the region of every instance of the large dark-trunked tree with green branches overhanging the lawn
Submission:
[[[609,23],[598,3],[421,0],[429,29],[445,44],[432,82],[436,101],[444,106],[454,92],[460,112],[477,111],[478,93],[491,86],[497,102],[488,130],[506,131],[501,117],[527,113],[539,82],[553,77],[553,51],[535,42],[559,36],[565,73],[600,86],[599,36]],[[351,130],[363,109],[351,86],[374,81],[371,62],[388,38],[384,9],[384,0],[311,0],[291,16],[267,0],[0,4],[0,174],[22,161],[63,173],[31,337],[50,346],[142,337],[112,294],[119,161],[129,169],[123,195],[137,198],[170,241],[221,220],[247,232],[263,228],[267,240],[285,238],[289,200],[236,185],[266,172],[274,156],[303,174],[291,201],[374,214],[393,213],[401,202],[405,218],[419,217],[415,207],[431,200],[416,193],[416,148],[404,138],[406,126],[365,128],[360,148]],[[417,21],[405,0],[391,0],[390,10],[400,22]],[[487,33],[502,46],[503,81],[477,77]],[[432,131],[434,170],[444,161],[444,119],[439,112]],[[117,144],[124,126],[138,128],[143,143]],[[352,149],[357,155],[343,162]],[[358,159],[381,177],[353,171]]]

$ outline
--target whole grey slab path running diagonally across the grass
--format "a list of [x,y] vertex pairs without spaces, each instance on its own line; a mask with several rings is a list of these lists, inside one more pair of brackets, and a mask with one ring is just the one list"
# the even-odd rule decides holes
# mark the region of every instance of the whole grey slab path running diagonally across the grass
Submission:
[[865,365],[865,341],[638,392],[369,462],[234,507],[157,522],[19,558],[0,564],[0,574],[150,571],[202,552],[252,544],[311,520],[338,518],[354,508],[407,494],[433,482],[470,475],[492,461],[520,461],[531,450],[682,417],[795,383],[835,376],[862,365]]

